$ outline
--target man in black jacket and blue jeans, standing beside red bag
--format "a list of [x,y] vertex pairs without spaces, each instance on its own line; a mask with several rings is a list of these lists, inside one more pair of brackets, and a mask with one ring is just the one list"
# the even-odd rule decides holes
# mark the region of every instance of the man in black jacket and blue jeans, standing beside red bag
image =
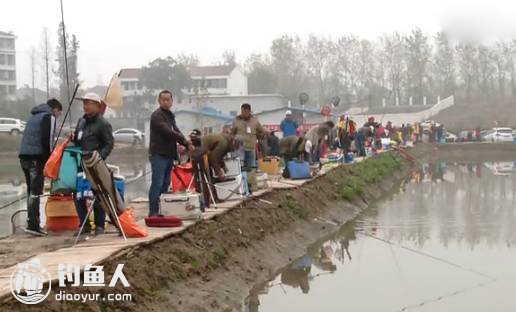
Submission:
[[177,143],[194,150],[176,124],[176,117],[170,111],[173,104],[172,92],[163,90],[158,95],[159,108],[150,120],[149,158],[152,182],[149,189],[149,216],[159,214],[159,197],[170,188],[170,174],[177,157]]

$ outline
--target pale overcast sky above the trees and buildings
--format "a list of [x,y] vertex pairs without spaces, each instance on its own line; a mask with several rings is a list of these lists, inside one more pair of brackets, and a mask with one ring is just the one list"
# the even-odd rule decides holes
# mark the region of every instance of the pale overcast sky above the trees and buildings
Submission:
[[[30,50],[39,50],[47,27],[55,50],[59,0],[1,0],[0,31],[13,31],[18,84],[30,84]],[[502,0],[64,0],[65,23],[80,41],[79,70],[85,86],[107,84],[124,67],[156,57],[192,53],[202,64],[232,49],[244,61],[266,52],[282,34],[369,39],[383,33],[427,33],[443,28],[479,40],[516,37],[516,1]],[[36,73],[42,87],[43,71]]]

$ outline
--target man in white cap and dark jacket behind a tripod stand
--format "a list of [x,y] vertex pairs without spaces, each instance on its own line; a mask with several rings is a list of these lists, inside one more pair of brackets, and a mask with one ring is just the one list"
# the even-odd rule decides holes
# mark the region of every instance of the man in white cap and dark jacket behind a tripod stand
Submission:
[[[114,142],[111,125],[101,114],[102,100],[95,93],[87,93],[79,99],[83,101],[84,116],[79,119],[77,127],[75,128],[73,135],[74,143],[81,147],[83,154],[97,151],[100,157],[106,160],[113,150]],[[82,224],[88,214],[86,201],[78,200],[76,202],[76,208]],[[95,219],[95,235],[104,234],[106,213],[98,200],[95,200],[93,204],[93,213]],[[88,223],[84,226],[83,232],[77,234],[89,233],[90,231],[91,228]]]

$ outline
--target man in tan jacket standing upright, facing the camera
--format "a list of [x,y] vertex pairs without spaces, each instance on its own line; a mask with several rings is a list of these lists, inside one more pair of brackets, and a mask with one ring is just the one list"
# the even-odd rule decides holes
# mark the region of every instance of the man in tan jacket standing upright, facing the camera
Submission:
[[251,114],[250,104],[244,103],[240,108],[241,114],[235,117],[231,133],[242,138],[241,157],[244,160],[244,167],[256,168],[256,141],[264,136],[265,130],[258,119]]

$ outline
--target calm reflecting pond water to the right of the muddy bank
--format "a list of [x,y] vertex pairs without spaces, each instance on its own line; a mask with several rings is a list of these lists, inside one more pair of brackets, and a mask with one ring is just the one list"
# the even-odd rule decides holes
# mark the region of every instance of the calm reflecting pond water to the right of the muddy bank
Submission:
[[425,164],[256,285],[246,311],[514,311],[514,163]]

